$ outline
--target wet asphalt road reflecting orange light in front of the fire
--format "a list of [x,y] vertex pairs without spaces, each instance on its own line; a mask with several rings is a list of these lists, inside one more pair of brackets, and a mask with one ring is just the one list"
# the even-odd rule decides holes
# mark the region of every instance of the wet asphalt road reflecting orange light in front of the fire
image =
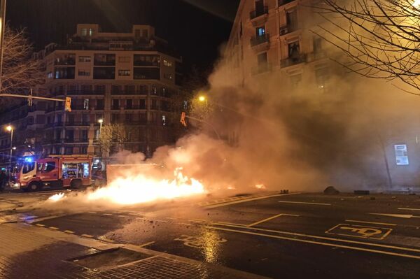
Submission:
[[[27,195],[8,199],[24,200]],[[143,245],[271,278],[420,274],[419,196],[259,194],[73,210],[34,209],[20,218],[45,229]]]

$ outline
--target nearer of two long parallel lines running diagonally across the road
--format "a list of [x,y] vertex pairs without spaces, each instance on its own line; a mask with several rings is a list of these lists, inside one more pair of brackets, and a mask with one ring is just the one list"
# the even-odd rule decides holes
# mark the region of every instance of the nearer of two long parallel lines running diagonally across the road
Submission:
[[325,246],[330,246],[330,247],[338,247],[338,248],[359,250],[359,251],[365,251],[365,252],[374,252],[374,253],[378,253],[378,254],[392,255],[392,256],[398,256],[398,257],[408,257],[408,258],[412,258],[412,259],[420,259],[420,256],[400,254],[400,253],[395,253],[395,252],[386,252],[386,251],[381,251],[381,250],[373,250],[373,249],[369,249],[369,248],[353,247],[353,246],[348,246],[348,245],[324,243],[324,242],[318,242],[318,241],[307,241],[307,240],[304,240],[304,239],[290,238],[290,237],[286,237],[286,236],[273,236],[271,234],[260,234],[260,233],[256,233],[256,232],[253,232],[253,231],[240,231],[240,230],[237,230],[237,229],[226,229],[226,228],[218,228],[218,227],[206,227],[206,228],[207,229],[217,229],[217,230],[221,230],[221,231],[232,231],[232,232],[237,232],[239,234],[252,234],[252,235],[255,235],[255,236],[265,236],[265,237],[270,237],[270,238],[278,238],[278,239],[283,239],[283,240],[287,240],[287,241],[297,241],[297,242],[302,242],[302,243],[311,243],[311,244],[325,245]]

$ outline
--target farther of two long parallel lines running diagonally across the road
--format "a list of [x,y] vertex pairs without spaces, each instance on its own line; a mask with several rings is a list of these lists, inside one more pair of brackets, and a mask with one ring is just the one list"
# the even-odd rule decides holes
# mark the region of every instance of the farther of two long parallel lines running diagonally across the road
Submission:
[[316,238],[316,239],[322,239],[322,240],[325,240],[325,241],[339,241],[339,242],[344,242],[344,243],[362,244],[362,245],[376,246],[376,247],[381,247],[381,248],[391,248],[391,249],[406,250],[406,251],[412,251],[412,252],[420,252],[419,249],[405,248],[405,247],[385,245],[385,244],[379,244],[379,243],[370,243],[370,242],[363,242],[363,241],[351,241],[351,240],[348,240],[348,239],[331,238],[331,237],[325,237],[325,236],[312,236],[310,234],[298,234],[298,233],[293,233],[293,232],[289,232],[289,231],[275,231],[273,229],[259,229],[259,228],[253,228],[253,227],[248,228],[248,227],[244,227],[243,225],[236,226],[236,225],[233,225],[233,224],[221,224],[221,223],[215,223],[215,224],[216,225],[221,225],[221,226],[227,226],[227,227],[241,228],[241,229],[252,229],[253,231],[268,231],[268,232],[273,232],[273,233],[276,233],[276,234],[286,234],[286,235],[290,235],[290,236],[303,236],[303,237],[307,237],[307,238]]

